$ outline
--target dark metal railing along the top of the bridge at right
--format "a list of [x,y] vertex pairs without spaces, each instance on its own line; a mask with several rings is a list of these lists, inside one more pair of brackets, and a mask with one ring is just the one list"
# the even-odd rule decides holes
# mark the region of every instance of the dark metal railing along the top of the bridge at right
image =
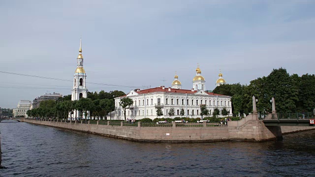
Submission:
[[313,113],[276,113],[276,114],[259,114],[260,120],[280,120],[280,119],[314,119]]

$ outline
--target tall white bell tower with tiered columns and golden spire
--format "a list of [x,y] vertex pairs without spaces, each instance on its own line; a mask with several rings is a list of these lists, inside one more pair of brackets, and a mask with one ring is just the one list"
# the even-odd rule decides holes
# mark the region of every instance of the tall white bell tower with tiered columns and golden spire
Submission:
[[[71,100],[79,100],[80,98],[87,98],[88,89],[86,87],[86,73],[83,68],[83,56],[82,56],[82,48],[81,48],[81,39],[80,39],[80,49],[79,55],[77,57],[77,68],[73,75],[73,87],[71,90]],[[68,116],[70,118],[70,114]],[[75,110],[72,119],[75,118],[85,118],[84,115],[80,115],[80,111]],[[90,119],[90,113],[88,112],[87,119]]]

